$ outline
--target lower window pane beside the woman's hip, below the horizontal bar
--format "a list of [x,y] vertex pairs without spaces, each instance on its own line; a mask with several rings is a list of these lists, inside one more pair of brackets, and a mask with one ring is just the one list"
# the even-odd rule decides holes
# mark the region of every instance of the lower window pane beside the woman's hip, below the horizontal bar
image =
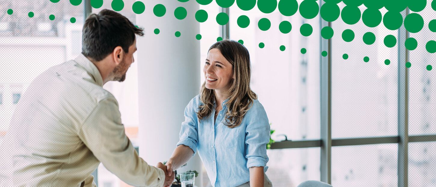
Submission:
[[296,187],[320,180],[320,148],[269,149],[266,175],[276,187]]

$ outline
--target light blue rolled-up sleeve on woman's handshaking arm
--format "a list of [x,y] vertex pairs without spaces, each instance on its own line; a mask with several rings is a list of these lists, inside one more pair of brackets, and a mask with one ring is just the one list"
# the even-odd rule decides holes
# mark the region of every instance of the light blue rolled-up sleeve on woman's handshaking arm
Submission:
[[179,142],[177,142],[176,146],[186,145],[194,151],[194,154],[197,152],[197,144],[198,144],[198,131],[197,131],[197,113],[195,110],[197,107],[194,107],[194,99],[192,99],[189,104],[185,108],[185,121],[182,122],[182,127],[179,134]]

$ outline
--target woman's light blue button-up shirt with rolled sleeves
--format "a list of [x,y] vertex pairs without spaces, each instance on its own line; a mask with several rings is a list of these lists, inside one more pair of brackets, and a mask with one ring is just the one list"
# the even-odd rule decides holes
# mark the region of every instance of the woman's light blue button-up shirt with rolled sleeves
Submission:
[[185,121],[177,143],[177,146],[189,146],[194,155],[198,150],[214,187],[235,187],[249,182],[250,167],[263,166],[264,172],[268,169],[269,121],[262,104],[254,100],[241,125],[228,128],[223,123],[227,112],[225,102],[215,122],[215,103],[211,115],[200,121],[195,112],[203,103],[200,95],[194,97],[185,108]]

